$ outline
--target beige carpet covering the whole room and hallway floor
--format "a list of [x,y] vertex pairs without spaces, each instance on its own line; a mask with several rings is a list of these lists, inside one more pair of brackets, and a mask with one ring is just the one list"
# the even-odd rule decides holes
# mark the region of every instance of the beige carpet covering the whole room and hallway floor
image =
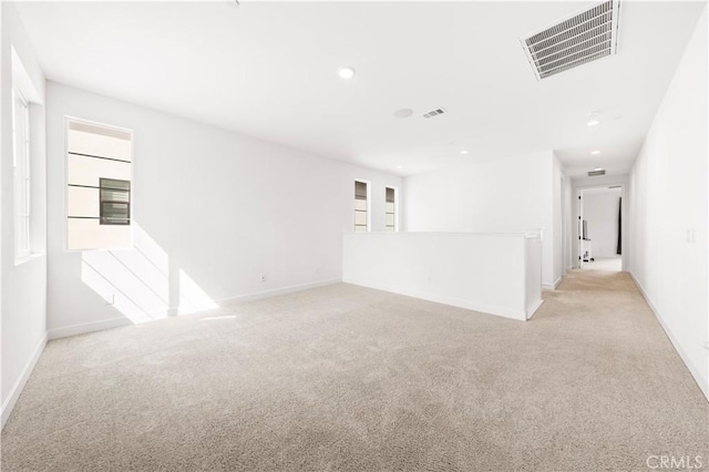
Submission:
[[52,341],[10,471],[647,470],[709,404],[626,274],[531,321],[336,285]]

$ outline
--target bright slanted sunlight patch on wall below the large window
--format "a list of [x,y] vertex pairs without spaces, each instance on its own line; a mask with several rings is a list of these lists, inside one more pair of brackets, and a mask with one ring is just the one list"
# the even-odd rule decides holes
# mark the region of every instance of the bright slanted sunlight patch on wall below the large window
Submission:
[[217,308],[138,224],[133,248],[82,254],[81,280],[134,324]]

